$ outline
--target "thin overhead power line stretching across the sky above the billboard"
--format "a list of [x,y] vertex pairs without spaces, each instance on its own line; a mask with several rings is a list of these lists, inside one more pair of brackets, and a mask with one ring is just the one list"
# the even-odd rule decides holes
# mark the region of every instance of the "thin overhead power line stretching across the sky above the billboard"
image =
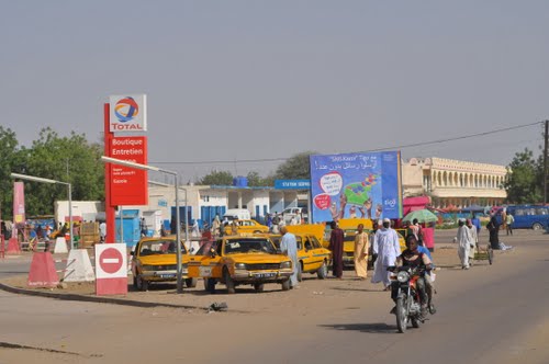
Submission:
[[[440,143],[447,143],[447,141],[462,140],[462,139],[475,138],[475,137],[486,136],[486,135],[496,134],[496,133],[504,133],[504,132],[516,130],[516,129],[520,129],[520,128],[525,128],[525,127],[530,127],[530,126],[534,126],[534,125],[541,125],[541,124],[544,124],[544,122],[536,122],[536,123],[530,123],[530,124],[516,125],[516,126],[504,127],[504,128],[500,128],[500,129],[493,129],[493,130],[482,132],[482,133],[475,133],[475,134],[468,134],[468,135],[462,135],[462,136],[452,137],[452,138],[446,138],[446,139],[437,139],[437,140],[430,140],[430,141],[419,141],[419,143],[414,143],[414,144],[406,144],[406,145],[399,145],[399,146],[392,146],[392,147],[369,149],[369,150],[363,150],[362,152],[394,150],[394,149],[405,149],[405,148],[421,147],[421,146],[427,146],[427,145],[433,145],[433,144],[440,144]],[[227,163],[265,163],[265,162],[282,162],[282,161],[285,161],[288,159],[290,159],[290,157],[260,158],[260,159],[233,159],[233,160],[204,160],[204,161],[173,161],[173,162],[154,161],[154,162],[150,162],[150,163],[153,163],[153,164],[188,164],[188,166],[191,166],[191,164],[227,164]]]

